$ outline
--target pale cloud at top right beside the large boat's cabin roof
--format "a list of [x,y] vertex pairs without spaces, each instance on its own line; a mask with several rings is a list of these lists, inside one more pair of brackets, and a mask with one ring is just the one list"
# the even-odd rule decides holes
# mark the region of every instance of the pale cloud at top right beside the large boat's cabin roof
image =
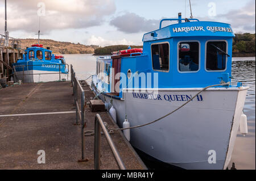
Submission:
[[248,2],[241,9],[218,14],[216,18],[224,18],[235,31],[255,32],[255,1]]

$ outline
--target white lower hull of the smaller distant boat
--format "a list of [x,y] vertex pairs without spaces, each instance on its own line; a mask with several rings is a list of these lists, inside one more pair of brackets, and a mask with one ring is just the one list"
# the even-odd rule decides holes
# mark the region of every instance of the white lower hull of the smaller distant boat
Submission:
[[[30,74],[30,75],[26,75],[26,74]],[[18,80],[21,80],[21,81],[23,80],[23,82],[51,82],[51,81],[59,81],[59,79],[67,80],[68,74],[59,75],[59,71],[25,70],[24,75],[23,75],[23,71],[16,71],[16,77]]]

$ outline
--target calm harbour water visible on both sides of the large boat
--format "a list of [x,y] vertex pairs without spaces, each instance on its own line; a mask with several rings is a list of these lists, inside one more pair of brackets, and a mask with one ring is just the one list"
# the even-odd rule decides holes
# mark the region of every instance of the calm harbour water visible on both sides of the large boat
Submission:
[[[96,58],[92,54],[66,54],[67,64],[72,64],[79,79],[86,79],[96,72]],[[247,116],[248,134],[243,137],[238,131],[231,163],[237,169],[255,169],[255,57],[232,58],[233,81],[249,86],[244,113]],[[154,168],[152,168],[154,169]]]

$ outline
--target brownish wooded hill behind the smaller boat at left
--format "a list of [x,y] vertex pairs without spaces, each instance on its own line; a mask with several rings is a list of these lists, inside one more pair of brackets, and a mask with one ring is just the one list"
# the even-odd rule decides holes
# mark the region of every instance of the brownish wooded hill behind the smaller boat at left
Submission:
[[[20,39],[22,49],[31,47],[32,44],[37,44],[37,39]],[[40,39],[40,44],[43,44],[43,47],[49,47],[53,53],[56,54],[86,54],[94,53],[94,49],[98,48],[97,45],[82,45],[80,43],[70,43],[63,41],[54,41],[49,39]]]

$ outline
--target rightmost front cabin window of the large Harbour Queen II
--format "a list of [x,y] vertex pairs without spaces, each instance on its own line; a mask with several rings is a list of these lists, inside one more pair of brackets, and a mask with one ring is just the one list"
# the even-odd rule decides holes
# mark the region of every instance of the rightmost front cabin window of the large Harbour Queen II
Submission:
[[208,41],[206,69],[225,70],[227,56],[225,41]]

